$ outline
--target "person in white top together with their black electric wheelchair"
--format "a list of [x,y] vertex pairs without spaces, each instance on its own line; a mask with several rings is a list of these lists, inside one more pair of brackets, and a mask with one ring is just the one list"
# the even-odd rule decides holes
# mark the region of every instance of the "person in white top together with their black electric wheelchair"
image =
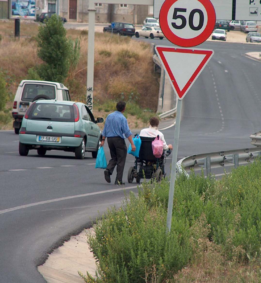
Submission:
[[[166,156],[170,155],[171,144],[167,145],[164,135],[158,130],[159,119],[152,117],[150,119],[150,127],[141,130],[140,139],[142,141],[139,157],[135,157],[135,164],[129,168],[128,182],[132,183],[136,178],[136,182],[139,183],[141,178],[156,179],[160,182],[162,177],[165,177],[164,164],[166,163]],[[160,158],[156,158],[152,151],[152,141],[159,136],[163,141],[163,154]]]

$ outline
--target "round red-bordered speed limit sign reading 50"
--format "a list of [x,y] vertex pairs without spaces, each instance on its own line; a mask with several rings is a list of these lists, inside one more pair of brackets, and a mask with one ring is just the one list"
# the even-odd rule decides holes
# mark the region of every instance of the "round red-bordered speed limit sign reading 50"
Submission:
[[166,0],[160,9],[159,21],[169,41],[191,47],[211,35],[216,13],[210,0]]

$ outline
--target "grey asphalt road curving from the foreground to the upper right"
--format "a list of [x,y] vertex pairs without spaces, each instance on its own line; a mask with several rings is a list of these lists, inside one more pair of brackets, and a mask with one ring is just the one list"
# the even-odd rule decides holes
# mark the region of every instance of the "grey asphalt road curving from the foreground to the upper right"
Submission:
[[[261,64],[244,54],[260,46],[205,42],[198,47],[215,54],[183,100],[178,158],[253,147],[249,136],[261,128]],[[163,132],[167,143],[173,141],[174,127]],[[18,140],[13,131],[0,131],[0,282],[40,283],[45,280],[36,266],[48,252],[90,227],[98,211],[120,205],[125,193],[137,190],[135,183],[126,183],[126,192],[114,185],[115,173],[106,183],[90,153],[84,160],[59,151],[19,156]],[[109,156],[107,145],[105,152]],[[127,157],[125,181],[133,160]],[[170,164],[168,159],[167,174]]]

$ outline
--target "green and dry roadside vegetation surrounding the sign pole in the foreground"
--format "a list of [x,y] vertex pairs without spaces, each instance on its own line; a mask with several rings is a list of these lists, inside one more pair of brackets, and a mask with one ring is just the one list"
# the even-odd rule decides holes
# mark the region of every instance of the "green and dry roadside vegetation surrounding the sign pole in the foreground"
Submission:
[[221,180],[193,172],[175,183],[166,233],[169,180],[143,182],[94,224],[87,241],[97,259],[88,283],[261,282],[261,161]]

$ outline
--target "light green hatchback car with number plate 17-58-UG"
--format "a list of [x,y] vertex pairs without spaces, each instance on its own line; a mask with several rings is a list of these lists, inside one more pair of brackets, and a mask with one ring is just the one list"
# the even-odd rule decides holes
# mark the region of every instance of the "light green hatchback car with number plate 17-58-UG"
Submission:
[[101,130],[88,106],[81,102],[38,100],[25,113],[19,131],[19,154],[26,156],[30,149],[38,155],[58,149],[75,153],[83,159],[85,152],[97,157]]

